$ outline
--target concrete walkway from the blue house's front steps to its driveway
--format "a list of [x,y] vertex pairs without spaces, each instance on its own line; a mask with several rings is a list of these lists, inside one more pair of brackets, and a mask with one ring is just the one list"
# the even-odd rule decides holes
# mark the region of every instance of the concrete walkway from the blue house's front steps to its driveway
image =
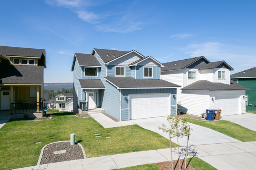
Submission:
[[131,121],[119,121],[115,122],[112,119],[110,119],[108,116],[104,115],[103,113],[90,113],[91,117],[95,119],[97,122],[99,122],[104,128],[113,128],[113,127],[119,127],[119,126],[128,126],[135,124]]

